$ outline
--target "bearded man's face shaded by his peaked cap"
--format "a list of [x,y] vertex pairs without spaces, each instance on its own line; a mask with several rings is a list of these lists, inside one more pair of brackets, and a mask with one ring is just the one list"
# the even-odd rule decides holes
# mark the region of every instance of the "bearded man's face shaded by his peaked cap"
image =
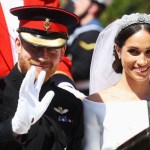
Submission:
[[41,70],[46,71],[45,80],[48,80],[56,71],[57,65],[62,59],[65,48],[48,50],[47,48],[36,48],[26,42],[16,39],[18,53],[18,67],[23,74],[26,74],[30,67],[36,67],[36,78]]

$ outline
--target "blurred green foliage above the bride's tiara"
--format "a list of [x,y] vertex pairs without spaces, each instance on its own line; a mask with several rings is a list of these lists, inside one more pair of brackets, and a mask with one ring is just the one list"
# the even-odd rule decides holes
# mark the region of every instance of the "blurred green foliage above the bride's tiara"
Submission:
[[150,14],[150,0],[112,0],[100,20],[106,26],[124,14],[136,12]]

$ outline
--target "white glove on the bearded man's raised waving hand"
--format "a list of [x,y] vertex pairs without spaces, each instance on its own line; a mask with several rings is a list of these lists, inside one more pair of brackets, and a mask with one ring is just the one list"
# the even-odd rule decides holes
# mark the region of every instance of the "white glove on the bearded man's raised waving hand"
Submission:
[[27,72],[19,91],[18,107],[12,119],[12,130],[17,134],[28,133],[31,125],[41,118],[54,97],[54,92],[49,91],[39,101],[39,92],[46,72],[42,70],[36,82],[35,74],[36,69],[32,66]]

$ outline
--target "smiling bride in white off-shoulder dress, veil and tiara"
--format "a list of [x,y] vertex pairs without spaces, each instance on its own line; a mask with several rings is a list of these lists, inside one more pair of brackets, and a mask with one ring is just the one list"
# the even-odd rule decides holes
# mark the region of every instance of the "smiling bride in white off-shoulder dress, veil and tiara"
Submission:
[[[100,76],[116,83],[100,89]],[[150,15],[124,15],[97,39],[90,82],[96,93],[83,100],[84,150],[115,150],[149,127],[149,76]]]

